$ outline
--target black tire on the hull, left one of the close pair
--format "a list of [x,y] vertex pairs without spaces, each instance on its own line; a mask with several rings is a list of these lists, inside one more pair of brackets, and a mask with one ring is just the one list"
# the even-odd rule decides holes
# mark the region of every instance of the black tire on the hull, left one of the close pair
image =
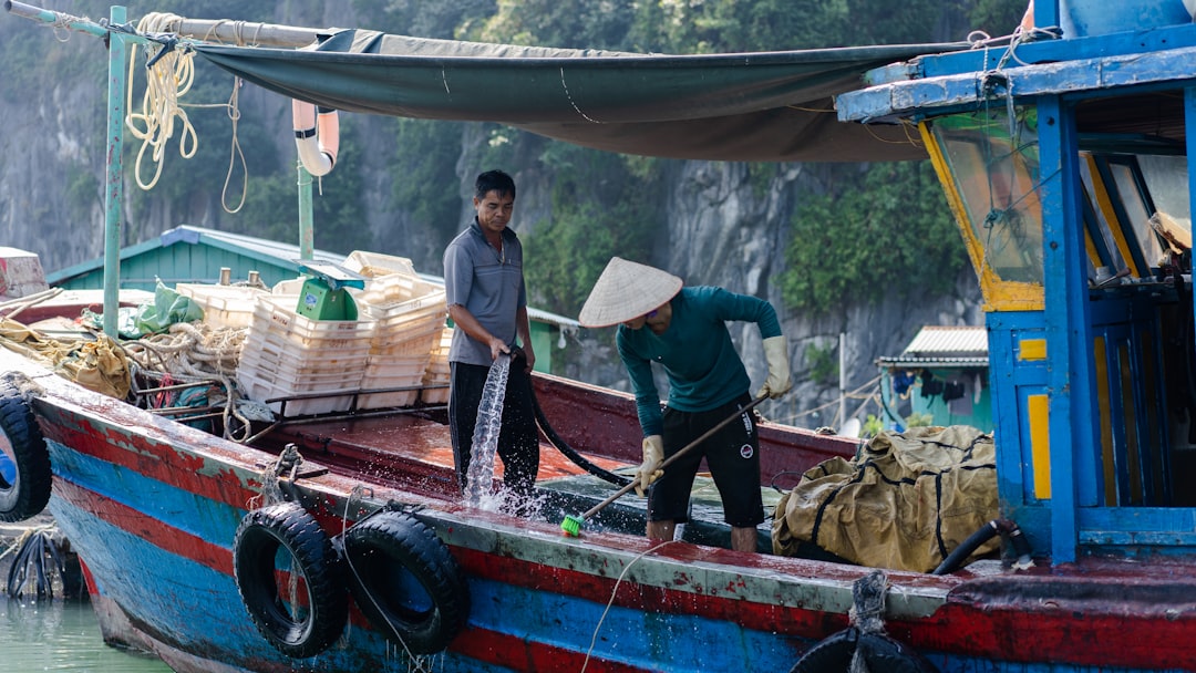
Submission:
[[[285,549],[292,563],[276,565]],[[280,582],[280,571],[299,573],[299,595]],[[306,659],[332,644],[348,620],[340,557],[319,522],[295,502],[246,514],[233,542],[237,591],[257,630],[279,651]]]

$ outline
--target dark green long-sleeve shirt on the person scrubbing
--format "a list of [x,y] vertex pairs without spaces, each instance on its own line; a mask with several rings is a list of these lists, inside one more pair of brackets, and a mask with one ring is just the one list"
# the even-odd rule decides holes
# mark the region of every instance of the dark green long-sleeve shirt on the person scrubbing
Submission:
[[643,435],[664,428],[660,393],[652,380],[652,362],[669,375],[669,406],[681,411],[716,409],[748,392],[751,380],[736,353],[727,322],[756,323],[762,338],[781,336],[776,311],[768,301],[718,287],[685,287],[671,301],[672,319],[665,334],[643,326],[620,325],[618,354],[635,390]]

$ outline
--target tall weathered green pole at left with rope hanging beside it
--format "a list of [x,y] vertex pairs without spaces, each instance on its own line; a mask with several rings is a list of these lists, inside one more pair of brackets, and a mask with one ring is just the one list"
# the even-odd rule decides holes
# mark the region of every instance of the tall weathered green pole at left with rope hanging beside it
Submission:
[[[124,7],[114,5],[112,25],[124,23]],[[117,337],[121,311],[121,204],[124,189],[121,176],[124,146],[124,37],[109,32],[108,44],[108,183],[104,190],[104,334]]]

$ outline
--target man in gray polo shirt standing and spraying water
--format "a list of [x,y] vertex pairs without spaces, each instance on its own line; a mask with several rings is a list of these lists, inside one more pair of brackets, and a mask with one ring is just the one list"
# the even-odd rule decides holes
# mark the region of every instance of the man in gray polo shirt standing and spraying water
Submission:
[[[507,227],[514,201],[515,183],[511,176],[502,171],[477,176],[474,185],[477,216],[445,249],[448,317],[457,328],[448,350],[452,372],[448,421],[457,478],[464,490],[486,378],[499,355],[509,354],[498,454],[502,459],[504,484],[523,496],[519,504],[526,506],[539,470],[539,439],[531,392],[536,355],[527,322],[523,245]],[[517,504],[513,509],[521,508]]]

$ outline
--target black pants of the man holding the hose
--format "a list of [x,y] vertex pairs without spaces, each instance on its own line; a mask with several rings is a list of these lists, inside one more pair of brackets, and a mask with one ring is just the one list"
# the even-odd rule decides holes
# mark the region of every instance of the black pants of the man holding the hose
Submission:
[[[502,424],[499,430],[499,458],[502,459],[502,482],[519,495],[531,495],[539,471],[539,435],[532,406],[531,377],[524,372],[526,361],[511,361],[507,392],[502,399]],[[465,490],[469,460],[474,449],[474,427],[489,367],[453,362],[448,384],[448,428],[452,453],[457,464],[457,482]]]

